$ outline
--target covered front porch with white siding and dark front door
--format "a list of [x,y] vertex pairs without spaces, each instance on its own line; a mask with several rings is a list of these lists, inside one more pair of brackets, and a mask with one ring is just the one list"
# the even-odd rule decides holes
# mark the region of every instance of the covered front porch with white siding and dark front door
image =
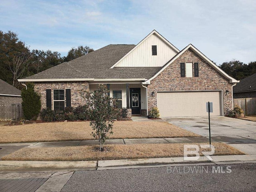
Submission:
[[[110,83],[105,84],[110,91],[110,97],[116,98],[119,108],[127,108],[130,115],[147,116],[147,90],[140,83]],[[98,84],[89,83],[90,92],[98,89]]]

